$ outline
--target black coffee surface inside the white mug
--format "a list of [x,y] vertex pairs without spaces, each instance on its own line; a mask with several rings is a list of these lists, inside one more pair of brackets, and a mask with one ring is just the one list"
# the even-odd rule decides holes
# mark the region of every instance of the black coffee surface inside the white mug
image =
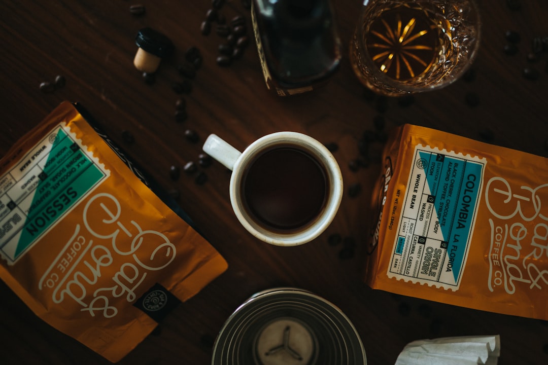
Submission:
[[259,152],[242,177],[243,206],[267,230],[293,233],[319,216],[328,200],[325,167],[293,144]]

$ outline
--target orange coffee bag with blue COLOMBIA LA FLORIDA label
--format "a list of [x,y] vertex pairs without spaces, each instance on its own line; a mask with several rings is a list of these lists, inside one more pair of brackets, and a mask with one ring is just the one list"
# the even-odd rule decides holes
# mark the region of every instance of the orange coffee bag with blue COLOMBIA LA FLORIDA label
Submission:
[[548,159],[404,125],[376,192],[371,287],[548,320]]

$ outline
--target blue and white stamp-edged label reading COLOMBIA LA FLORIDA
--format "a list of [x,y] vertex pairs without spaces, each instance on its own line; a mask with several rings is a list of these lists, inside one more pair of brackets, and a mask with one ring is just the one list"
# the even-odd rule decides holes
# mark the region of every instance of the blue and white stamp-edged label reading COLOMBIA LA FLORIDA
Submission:
[[[486,160],[416,146],[389,277],[456,290],[476,221]],[[401,200],[400,200],[401,199]]]

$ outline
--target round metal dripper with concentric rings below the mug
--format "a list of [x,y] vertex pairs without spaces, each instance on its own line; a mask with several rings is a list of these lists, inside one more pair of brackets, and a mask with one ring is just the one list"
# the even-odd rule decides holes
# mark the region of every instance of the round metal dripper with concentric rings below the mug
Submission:
[[212,365],[366,365],[349,318],[334,304],[298,288],[254,294],[215,340]]

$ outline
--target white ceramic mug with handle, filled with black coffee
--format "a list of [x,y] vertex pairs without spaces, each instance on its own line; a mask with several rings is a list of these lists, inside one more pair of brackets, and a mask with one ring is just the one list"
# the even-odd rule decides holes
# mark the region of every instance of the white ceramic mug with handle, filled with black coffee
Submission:
[[210,135],[203,150],[232,170],[232,208],[242,225],[262,241],[277,246],[309,242],[329,226],[339,209],[343,197],[339,165],[310,136],[276,132],[239,152]]

